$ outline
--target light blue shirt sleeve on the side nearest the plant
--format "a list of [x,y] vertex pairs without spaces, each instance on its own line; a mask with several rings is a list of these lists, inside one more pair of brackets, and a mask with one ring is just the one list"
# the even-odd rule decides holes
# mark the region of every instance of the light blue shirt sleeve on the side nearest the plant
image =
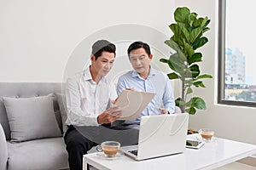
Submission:
[[166,89],[163,95],[163,104],[170,114],[175,112],[175,100],[169,78],[166,76]]

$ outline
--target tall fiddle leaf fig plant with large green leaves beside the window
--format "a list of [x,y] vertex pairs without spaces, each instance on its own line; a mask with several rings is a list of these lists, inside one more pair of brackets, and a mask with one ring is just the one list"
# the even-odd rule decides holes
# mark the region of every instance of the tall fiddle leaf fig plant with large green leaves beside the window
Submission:
[[198,49],[208,42],[207,37],[203,35],[210,30],[207,27],[210,20],[207,17],[197,18],[197,14],[190,13],[187,7],[177,8],[174,12],[174,20],[176,23],[169,26],[173,36],[165,43],[175,53],[172,53],[169,59],[160,59],[160,61],[168,64],[172,70],[167,74],[169,79],[181,80],[182,93],[181,97],[175,100],[176,105],[182,112],[186,111],[194,115],[196,109],[207,109],[204,99],[189,96],[193,94],[193,88],[205,88],[202,79],[212,78],[211,75],[201,74],[198,65],[202,62],[202,54]]

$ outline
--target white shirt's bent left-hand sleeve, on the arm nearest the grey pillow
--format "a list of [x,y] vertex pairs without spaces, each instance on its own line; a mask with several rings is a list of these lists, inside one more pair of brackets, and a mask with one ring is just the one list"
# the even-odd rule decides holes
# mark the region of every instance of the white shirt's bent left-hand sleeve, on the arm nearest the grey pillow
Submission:
[[67,79],[67,124],[74,126],[99,126],[97,116],[81,110],[81,95],[79,81],[75,78]]

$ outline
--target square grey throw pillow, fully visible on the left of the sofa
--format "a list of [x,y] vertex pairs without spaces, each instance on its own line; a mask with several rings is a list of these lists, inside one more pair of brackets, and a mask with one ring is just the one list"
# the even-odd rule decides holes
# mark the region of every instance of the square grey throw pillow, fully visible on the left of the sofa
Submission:
[[3,97],[12,142],[61,136],[55,119],[53,97],[53,94],[18,99]]

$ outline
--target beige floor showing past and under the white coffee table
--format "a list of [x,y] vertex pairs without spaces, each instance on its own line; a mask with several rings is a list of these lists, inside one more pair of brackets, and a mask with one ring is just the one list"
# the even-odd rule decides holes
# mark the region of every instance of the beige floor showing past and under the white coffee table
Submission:
[[[90,167],[90,170],[98,170],[95,167]],[[224,167],[218,167],[215,170],[256,170],[256,157],[246,157],[239,161],[235,161]]]

